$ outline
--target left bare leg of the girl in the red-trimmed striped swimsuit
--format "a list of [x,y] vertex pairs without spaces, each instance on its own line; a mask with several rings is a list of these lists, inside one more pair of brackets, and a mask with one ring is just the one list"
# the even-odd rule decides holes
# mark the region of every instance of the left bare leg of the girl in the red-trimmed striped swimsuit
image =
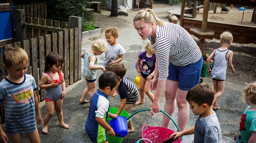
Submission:
[[45,101],[45,107],[46,107],[47,113],[44,116],[44,125],[42,128],[42,132],[48,133],[47,125],[49,123],[50,118],[52,117],[52,115],[54,113],[54,102],[53,101]]

